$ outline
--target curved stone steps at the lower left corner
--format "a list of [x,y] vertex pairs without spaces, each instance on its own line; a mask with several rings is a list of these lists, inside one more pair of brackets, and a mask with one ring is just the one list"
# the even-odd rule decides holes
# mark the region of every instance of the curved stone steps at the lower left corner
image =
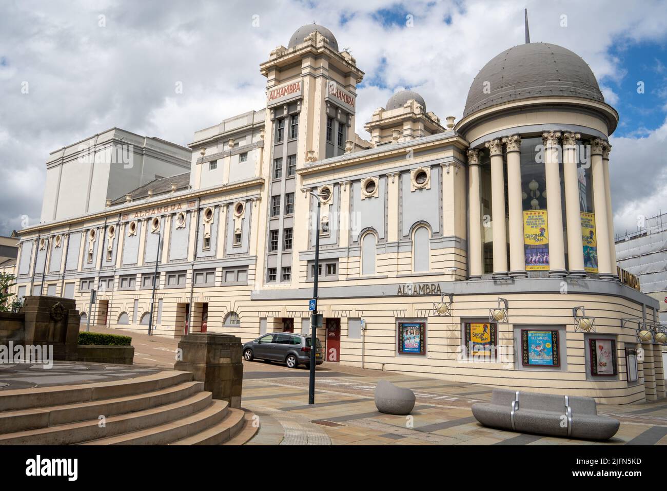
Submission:
[[187,371],[0,391],[0,445],[241,445],[252,415]]

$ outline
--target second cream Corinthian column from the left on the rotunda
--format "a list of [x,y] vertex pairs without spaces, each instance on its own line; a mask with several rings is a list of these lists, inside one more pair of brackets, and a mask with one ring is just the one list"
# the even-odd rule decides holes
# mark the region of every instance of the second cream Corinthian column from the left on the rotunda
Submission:
[[491,155],[491,213],[494,234],[494,278],[507,276],[507,232],[505,220],[505,172],[502,142],[484,144]]

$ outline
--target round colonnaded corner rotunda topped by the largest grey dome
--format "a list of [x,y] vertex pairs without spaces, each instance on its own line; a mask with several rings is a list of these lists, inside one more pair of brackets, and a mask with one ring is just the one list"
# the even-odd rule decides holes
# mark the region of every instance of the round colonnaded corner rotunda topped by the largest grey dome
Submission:
[[617,124],[569,49],[526,43],[484,65],[456,125],[470,142],[471,279],[618,279],[608,161]]

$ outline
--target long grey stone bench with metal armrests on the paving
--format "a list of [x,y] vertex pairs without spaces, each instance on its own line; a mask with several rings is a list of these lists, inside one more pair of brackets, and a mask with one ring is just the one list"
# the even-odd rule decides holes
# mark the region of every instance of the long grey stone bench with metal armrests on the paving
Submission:
[[592,397],[508,389],[494,389],[491,402],[473,404],[472,414],[490,428],[584,440],[609,440],[620,425],[598,416]]

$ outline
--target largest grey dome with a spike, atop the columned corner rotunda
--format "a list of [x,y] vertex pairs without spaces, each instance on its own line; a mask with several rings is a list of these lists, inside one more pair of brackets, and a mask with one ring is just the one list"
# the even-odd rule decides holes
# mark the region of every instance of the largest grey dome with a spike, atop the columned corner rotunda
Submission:
[[463,116],[538,96],[574,96],[604,102],[598,81],[582,57],[555,44],[526,43],[506,49],[484,65],[472,81]]

